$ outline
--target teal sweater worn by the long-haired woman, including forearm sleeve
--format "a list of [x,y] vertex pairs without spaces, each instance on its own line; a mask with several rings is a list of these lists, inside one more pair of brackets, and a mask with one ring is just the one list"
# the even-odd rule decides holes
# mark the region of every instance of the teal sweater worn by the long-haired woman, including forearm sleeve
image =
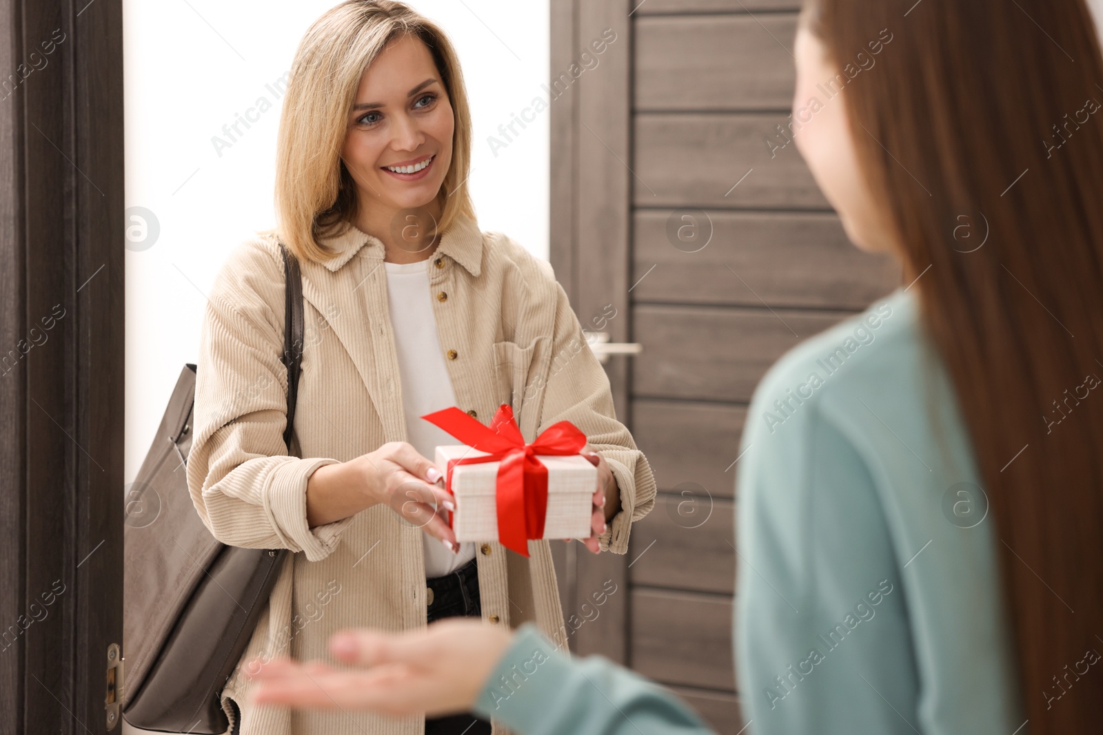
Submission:
[[[1002,544],[914,294],[782,357],[745,450],[733,641],[747,733],[1025,735]],[[711,732],[641,677],[555,651],[532,624],[517,633],[479,714],[527,735]]]

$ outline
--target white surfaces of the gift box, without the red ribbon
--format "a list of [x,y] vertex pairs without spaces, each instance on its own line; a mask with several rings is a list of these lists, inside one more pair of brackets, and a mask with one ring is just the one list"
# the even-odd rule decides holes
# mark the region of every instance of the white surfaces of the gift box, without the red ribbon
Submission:
[[[437,466],[448,473],[449,460],[486,456],[464,444],[437,447]],[[578,454],[543,455],[548,468],[548,505],[544,520],[545,539],[585,539],[592,533],[593,493],[598,468]],[[497,541],[499,462],[456,465],[449,489],[456,496],[452,531],[457,541]]]

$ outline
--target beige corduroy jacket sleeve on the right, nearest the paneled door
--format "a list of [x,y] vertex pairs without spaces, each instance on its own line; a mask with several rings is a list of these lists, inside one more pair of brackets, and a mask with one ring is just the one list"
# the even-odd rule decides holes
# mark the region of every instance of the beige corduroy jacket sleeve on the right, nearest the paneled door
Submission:
[[621,509],[598,538],[602,551],[624,554],[632,523],[655,506],[655,476],[628,428],[617,420],[609,377],[587,345],[567,293],[558,282],[554,282],[554,287],[553,363],[545,387],[539,431],[557,421],[570,421],[604,457],[620,488]]

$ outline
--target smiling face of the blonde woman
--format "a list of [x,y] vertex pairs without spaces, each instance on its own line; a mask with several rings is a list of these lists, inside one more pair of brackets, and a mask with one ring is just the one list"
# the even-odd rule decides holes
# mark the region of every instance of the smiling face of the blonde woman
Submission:
[[392,41],[361,77],[342,150],[364,227],[382,234],[397,212],[436,199],[452,162],[454,126],[429,48],[415,36]]

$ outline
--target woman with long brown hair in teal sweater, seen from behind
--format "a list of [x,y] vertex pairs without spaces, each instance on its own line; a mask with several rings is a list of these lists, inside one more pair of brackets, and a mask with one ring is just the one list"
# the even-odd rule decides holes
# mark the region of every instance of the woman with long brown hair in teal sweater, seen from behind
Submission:
[[[896,253],[904,278],[785,355],[748,412],[747,732],[1097,732],[1103,56],[1089,9],[807,0],[796,66],[802,154],[854,244]],[[705,732],[673,695],[531,627],[351,631],[331,650],[372,668],[317,664],[307,681],[274,662],[258,701]]]

